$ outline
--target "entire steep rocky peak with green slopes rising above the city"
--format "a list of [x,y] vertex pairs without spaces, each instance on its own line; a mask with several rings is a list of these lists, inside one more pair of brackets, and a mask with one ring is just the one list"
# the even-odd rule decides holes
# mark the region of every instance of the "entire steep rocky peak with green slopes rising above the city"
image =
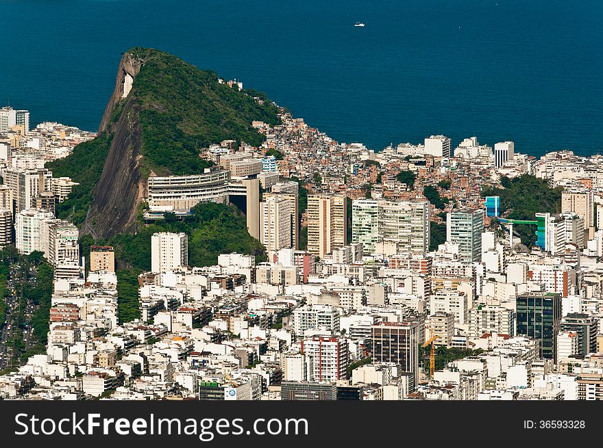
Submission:
[[210,163],[199,150],[222,140],[261,144],[251,122],[278,122],[278,110],[257,95],[162,51],[125,52],[99,136],[48,164],[80,183],[58,214],[81,224],[82,235],[134,233],[149,174],[202,172]]

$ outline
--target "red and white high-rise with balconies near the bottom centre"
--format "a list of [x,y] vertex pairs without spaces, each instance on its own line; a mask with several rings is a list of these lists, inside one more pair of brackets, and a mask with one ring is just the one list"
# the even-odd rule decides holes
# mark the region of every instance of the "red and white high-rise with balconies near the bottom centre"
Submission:
[[349,347],[345,338],[312,337],[302,341],[302,353],[312,358],[315,382],[347,380]]

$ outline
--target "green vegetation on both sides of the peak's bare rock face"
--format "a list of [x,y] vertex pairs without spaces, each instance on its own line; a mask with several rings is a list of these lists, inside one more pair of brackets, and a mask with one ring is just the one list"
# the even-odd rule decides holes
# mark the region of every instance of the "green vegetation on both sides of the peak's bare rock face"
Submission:
[[[168,53],[140,48],[128,53],[145,60],[128,96],[128,101],[135,99],[140,111],[143,175],[149,170],[157,174],[201,172],[212,165],[199,157],[201,148],[223,140],[259,145],[264,136],[251,122],[275,124],[279,120],[278,108],[260,92],[231,89],[220,84],[214,72],[200,70]],[[264,103],[260,105],[253,96]],[[130,112],[126,101],[119,101],[111,123]],[[59,218],[69,218],[77,225],[84,221],[112,138],[112,133],[103,132],[95,140],[76,146],[68,157],[47,163],[53,176],[71,177],[80,184],[57,206]]]

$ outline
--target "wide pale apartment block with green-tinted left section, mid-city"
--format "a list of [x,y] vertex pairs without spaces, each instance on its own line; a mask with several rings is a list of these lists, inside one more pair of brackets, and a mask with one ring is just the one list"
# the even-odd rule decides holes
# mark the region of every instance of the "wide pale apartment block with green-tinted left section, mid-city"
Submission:
[[427,252],[430,204],[427,201],[354,200],[352,241],[362,243],[365,255],[373,254],[380,241],[395,242],[399,253]]

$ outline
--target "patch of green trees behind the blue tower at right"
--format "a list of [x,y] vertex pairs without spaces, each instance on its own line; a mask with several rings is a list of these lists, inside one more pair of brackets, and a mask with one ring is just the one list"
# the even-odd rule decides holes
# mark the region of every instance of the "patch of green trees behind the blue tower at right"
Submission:
[[[508,179],[503,177],[505,188],[484,187],[482,196],[500,196],[500,211],[504,218],[512,220],[535,220],[536,213],[560,213],[562,188],[549,187],[545,179],[529,174]],[[521,242],[532,246],[536,242],[536,226],[517,224],[513,226]]]

